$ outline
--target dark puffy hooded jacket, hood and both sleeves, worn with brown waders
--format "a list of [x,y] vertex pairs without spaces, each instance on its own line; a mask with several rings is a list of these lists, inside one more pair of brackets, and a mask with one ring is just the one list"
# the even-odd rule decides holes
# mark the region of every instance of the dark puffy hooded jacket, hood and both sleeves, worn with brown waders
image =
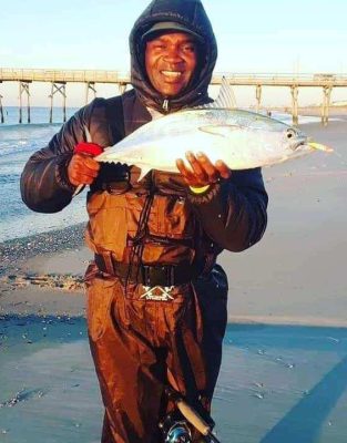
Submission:
[[[68,179],[67,166],[74,146],[85,141],[84,126],[89,128],[94,143],[109,146],[151,121],[146,106],[162,110],[165,97],[147,80],[142,41],[143,33],[160,21],[177,21],[198,33],[205,42],[197,75],[182,94],[171,100],[169,110],[176,111],[211,101],[207,87],[217,48],[201,1],[152,1],[130,35],[134,89],[121,97],[94,100],[70,119],[45,148],[33,154],[21,176],[22,198],[31,209],[54,213],[70,204],[74,187]],[[99,182],[102,182],[105,169],[102,166]],[[92,193],[94,190],[92,186]],[[218,253],[224,248],[241,251],[262,238],[266,227],[267,195],[259,168],[233,172],[231,179],[212,186],[205,195],[186,193],[204,233],[217,245]]]

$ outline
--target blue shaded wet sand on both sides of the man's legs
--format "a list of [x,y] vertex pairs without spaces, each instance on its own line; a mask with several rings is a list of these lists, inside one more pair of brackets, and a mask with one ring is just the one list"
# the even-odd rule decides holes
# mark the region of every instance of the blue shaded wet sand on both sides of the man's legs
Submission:
[[[3,317],[0,441],[96,443],[83,318]],[[229,324],[213,403],[224,443],[345,443],[347,329]]]

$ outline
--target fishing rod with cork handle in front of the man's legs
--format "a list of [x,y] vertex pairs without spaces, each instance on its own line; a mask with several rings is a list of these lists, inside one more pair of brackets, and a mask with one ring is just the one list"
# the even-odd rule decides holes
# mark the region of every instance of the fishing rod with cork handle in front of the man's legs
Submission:
[[[212,433],[211,425],[205,422],[205,420],[183,399],[183,396],[178,392],[169,387],[166,387],[165,392],[167,398],[175,403],[177,410],[187,420],[187,422],[190,422],[204,436],[206,443],[222,443]],[[184,426],[184,424],[180,425]],[[180,436],[176,440],[174,439],[175,436],[173,435],[173,439],[166,439],[165,443],[191,443],[191,440],[185,436],[183,436],[181,440],[178,440]]]

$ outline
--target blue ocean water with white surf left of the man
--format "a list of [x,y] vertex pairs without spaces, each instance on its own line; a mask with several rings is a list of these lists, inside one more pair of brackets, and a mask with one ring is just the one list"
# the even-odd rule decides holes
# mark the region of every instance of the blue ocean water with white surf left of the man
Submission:
[[[68,109],[68,117],[75,109]],[[27,119],[23,113],[23,121]],[[75,197],[59,214],[35,214],[28,209],[20,196],[20,175],[28,158],[43,148],[62,126],[62,110],[55,109],[49,124],[49,107],[32,107],[31,124],[19,124],[19,109],[4,110],[4,124],[0,124],[0,243],[38,233],[61,229],[86,220],[84,195]]]

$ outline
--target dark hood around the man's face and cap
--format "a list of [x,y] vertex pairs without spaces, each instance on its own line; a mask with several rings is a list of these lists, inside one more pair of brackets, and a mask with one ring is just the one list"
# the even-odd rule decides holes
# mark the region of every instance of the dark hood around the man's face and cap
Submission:
[[201,0],[153,0],[136,20],[130,34],[131,82],[137,96],[146,105],[163,112],[163,97],[151,84],[144,66],[142,35],[157,22],[184,24],[202,37],[203,60],[196,74],[182,94],[170,99],[169,111],[206,102],[207,87],[217,59],[217,44],[208,17]]

